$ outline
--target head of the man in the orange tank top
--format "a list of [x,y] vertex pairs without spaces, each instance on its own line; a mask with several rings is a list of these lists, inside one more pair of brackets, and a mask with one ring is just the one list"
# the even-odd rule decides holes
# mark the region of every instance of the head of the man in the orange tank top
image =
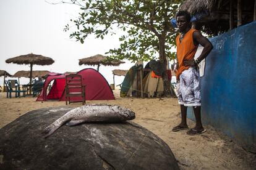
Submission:
[[179,10],[176,14],[177,27],[179,30],[186,31],[190,28],[190,14],[186,10]]

